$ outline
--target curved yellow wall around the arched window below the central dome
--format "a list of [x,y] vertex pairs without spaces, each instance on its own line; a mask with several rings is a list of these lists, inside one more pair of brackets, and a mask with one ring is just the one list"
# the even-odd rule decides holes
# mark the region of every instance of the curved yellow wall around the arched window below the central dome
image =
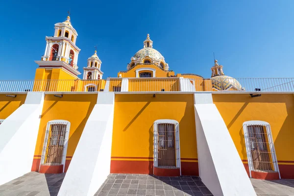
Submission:
[[126,73],[119,72],[118,77],[119,77],[120,74],[122,74],[122,77],[136,77],[136,70],[140,69],[140,68],[152,68],[152,69],[155,69],[155,76],[156,77],[167,77],[167,76],[174,75],[174,72],[163,71],[163,70],[161,70],[159,67],[157,67],[155,65],[137,65],[133,69],[130,69],[129,71],[127,71]]

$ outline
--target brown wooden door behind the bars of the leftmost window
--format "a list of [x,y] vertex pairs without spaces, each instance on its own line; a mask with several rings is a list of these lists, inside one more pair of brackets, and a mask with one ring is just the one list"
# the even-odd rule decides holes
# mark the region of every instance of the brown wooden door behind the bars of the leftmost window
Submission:
[[60,165],[62,163],[66,124],[52,124],[48,141],[46,164]]

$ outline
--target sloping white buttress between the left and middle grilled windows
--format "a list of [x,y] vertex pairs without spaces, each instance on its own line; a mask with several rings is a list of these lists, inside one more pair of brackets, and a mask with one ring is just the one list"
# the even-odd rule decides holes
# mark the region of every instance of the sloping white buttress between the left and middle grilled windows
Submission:
[[110,173],[114,93],[98,93],[58,196],[93,196]]

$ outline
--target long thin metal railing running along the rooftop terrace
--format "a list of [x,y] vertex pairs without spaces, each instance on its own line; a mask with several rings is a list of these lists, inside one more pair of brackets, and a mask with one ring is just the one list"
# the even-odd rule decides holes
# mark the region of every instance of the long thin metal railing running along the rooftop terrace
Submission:
[[[106,89],[105,89],[106,88]],[[294,92],[294,78],[151,77],[107,80],[0,80],[0,92]]]

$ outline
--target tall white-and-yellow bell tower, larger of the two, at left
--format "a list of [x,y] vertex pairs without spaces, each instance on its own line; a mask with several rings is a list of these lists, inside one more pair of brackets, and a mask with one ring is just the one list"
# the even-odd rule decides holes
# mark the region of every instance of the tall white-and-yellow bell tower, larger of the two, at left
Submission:
[[55,24],[53,36],[46,36],[46,49],[40,61],[35,79],[76,79],[80,49],[75,45],[77,32],[71,24],[70,13],[66,21]]

